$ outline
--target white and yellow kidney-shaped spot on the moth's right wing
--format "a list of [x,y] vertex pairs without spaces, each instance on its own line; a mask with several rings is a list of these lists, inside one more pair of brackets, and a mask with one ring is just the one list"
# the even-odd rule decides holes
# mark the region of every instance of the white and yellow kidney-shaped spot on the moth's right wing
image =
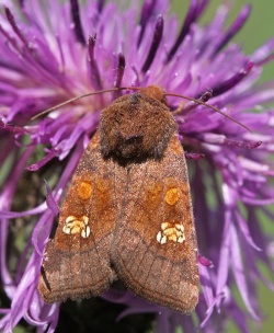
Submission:
[[169,241],[183,243],[185,240],[184,226],[181,223],[161,223],[161,230],[158,231],[156,239],[158,243],[165,244]]

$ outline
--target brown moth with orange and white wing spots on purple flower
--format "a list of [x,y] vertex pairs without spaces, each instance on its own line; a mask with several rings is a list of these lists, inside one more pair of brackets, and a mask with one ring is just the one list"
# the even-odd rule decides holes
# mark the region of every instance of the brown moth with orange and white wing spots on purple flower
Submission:
[[116,279],[182,313],[198,301],[184,151],[156,85],[102,111],[47,243],[38,289],[46,302],[75,300],[99,296]]

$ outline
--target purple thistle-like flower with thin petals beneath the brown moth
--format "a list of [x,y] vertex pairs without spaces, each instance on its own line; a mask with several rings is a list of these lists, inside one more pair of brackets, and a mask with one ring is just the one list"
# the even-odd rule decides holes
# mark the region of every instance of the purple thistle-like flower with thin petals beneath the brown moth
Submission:
[[[56,203],[100,112],[117,93],[81,99],[35,122],[32,116],[87,92],[158,84],[168,92],[209,97],[252,134],[192,102],[176,116],[189,151],[198,240],[198,322],[129,291],[112,289],[102,297],[127,306],[119,319],[156,313],[156,332],[174,332],[176,325],[184,332],[197,325],[222,332],[228,319],[249,332],[248,320],[261,318],[258,282],[274,289],[259,266],[273,268],[261,219],[274,218],[269,208],[274,203],[269,182],[274,175],[274,111],[264,106],[274,101],[274,84],[258,84],[263,66],[274,58],[274,38],[249,56],[231,43],[249,5],[225,30],[226,5],[206,27],[197,24],[206,0],[191,2],[182,27],[167,13],[167,0],[145,0],[140,12],[134,1],[127,10],[102,0],[82,5],[77,0],[5,2],[0,14],[0,269],[7,307],[0,309],[0,330],[12,332],[24,319],[37,332],[55,331],[59,305],[44,303],[37,291],[43,252],[58,214]],[[168,102],[175,108],[182,100]]]

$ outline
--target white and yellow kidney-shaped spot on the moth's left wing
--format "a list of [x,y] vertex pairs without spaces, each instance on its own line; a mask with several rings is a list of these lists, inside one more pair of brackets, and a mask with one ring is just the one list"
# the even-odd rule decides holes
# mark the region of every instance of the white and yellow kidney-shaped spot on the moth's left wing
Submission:
[[80,233],[82,238],[88,238],[90,236],[90,227],[88,223],[89,218],[85,215],[81,217],[68,216],[65,220],[62,232],[66,234]]

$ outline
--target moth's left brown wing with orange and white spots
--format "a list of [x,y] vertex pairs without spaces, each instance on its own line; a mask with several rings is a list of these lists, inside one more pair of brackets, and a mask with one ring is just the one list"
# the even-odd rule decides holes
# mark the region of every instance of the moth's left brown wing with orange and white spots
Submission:
[[55,236],[46,245],[38,286],[46,302],[98,296],[116,278],[110,266],[118,214],[114,170],[112,161],[102,159],[95,134],[72,177]]

